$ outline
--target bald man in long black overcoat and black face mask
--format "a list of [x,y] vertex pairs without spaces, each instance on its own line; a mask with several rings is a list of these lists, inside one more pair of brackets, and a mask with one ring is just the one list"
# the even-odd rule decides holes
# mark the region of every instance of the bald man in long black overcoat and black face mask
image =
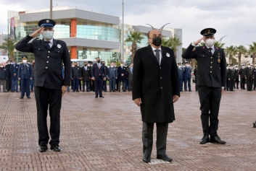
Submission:
[[141,108],[143,162],[150,162],[154,123],[157,125],[157,159],[166,154],[168,123],[175,120],[173,102],[180,96],[178,68],[173,50],[162,46],[160,30],[147,34],[149,45],[136,51],[133,62],[133,101]]

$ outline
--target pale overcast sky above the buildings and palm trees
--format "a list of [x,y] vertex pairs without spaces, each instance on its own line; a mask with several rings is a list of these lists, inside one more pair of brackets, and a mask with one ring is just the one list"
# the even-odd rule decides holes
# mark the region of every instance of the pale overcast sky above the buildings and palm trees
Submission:
[[[0,32],[7,33],[7,10],[24,11],[46,9],[48,1],[0,0]],[[40,4],[40,5],[39,5]],[[53,0],[53,6],[69,6],[78,9],[110,14],[122,19],[122,0]],[[224,35],[226,45],[245,45],[256,41],[255,0],[124,0],[124,21],[129,25],[181,28],[183,48],[202,36],[207,27],[217,30],[216,40]],[[146,26],[146,25],[145,25]]]

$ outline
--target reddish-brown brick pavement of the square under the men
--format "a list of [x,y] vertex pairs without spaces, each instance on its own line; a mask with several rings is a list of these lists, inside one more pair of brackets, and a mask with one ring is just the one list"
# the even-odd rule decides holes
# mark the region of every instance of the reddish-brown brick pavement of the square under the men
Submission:
[[[192,84],[194,89],[194,84]],[[0,93],[0,170],[256,170],[256,92],[225,92],[218,134],[226,145],[200,145],[197,92],[181,92],[168,130],[173,162],[141,161],[141,115],[131,92],[69,92],[61,111],[62,152],[38,153],[36,102]],[[155,136],[154,136],[155,138]]]

